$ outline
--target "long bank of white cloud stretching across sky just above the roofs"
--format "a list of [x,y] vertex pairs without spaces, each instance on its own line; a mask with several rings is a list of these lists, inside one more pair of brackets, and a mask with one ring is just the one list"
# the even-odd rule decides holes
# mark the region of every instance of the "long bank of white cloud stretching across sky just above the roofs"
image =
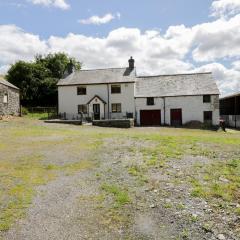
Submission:
[[[225,94],[240,90],[239,18],[237,15],[192,28],[171,26],[164,34],[156,30],[118,28],[101,38],[70,33],[65,37],[40,39],[17,26],[0,25],[0,72],[16,60],[32,60],[37,53],[65,51],[83,62],[84,68],[125,67],[133,56],[139,74],[213,71]],[[227,37],[227,33],[231,36]],[[196,68],[189,59],[191,55],[198,62],[213,62]],[[232,62],[229,68],[217,63],[217,59],[226,57]]]

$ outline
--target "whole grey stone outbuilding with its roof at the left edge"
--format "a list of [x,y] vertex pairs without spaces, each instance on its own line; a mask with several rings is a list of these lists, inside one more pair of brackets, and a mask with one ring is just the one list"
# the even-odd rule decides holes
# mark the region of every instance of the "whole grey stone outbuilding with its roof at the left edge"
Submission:
[[0,77],[0,116],[20,114],[20,90]]

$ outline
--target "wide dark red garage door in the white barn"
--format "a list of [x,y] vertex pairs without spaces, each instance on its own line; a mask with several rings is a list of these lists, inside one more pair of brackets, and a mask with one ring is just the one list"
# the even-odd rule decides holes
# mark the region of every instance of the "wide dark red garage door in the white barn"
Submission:
[[140,121],[142,126],[161,125],[161,110],[141,110]]

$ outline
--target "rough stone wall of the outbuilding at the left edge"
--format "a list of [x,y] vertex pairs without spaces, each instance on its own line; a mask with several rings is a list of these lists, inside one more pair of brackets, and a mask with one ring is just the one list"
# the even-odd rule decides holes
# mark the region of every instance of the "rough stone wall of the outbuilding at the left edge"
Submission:
[[[8,102],[4,103],[4,95],[8,94]],[[19,90],[0,84],[0,115],[19,115]]]

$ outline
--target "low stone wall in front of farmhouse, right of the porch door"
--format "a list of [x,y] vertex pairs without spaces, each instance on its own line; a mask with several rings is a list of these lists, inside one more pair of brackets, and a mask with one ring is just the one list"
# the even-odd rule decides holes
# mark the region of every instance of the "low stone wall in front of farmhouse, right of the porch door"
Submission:
[[93,121],[94,126],[99,127],[115,127],[115,128],[131,128],[134,127],[133,119],[111,119]]

